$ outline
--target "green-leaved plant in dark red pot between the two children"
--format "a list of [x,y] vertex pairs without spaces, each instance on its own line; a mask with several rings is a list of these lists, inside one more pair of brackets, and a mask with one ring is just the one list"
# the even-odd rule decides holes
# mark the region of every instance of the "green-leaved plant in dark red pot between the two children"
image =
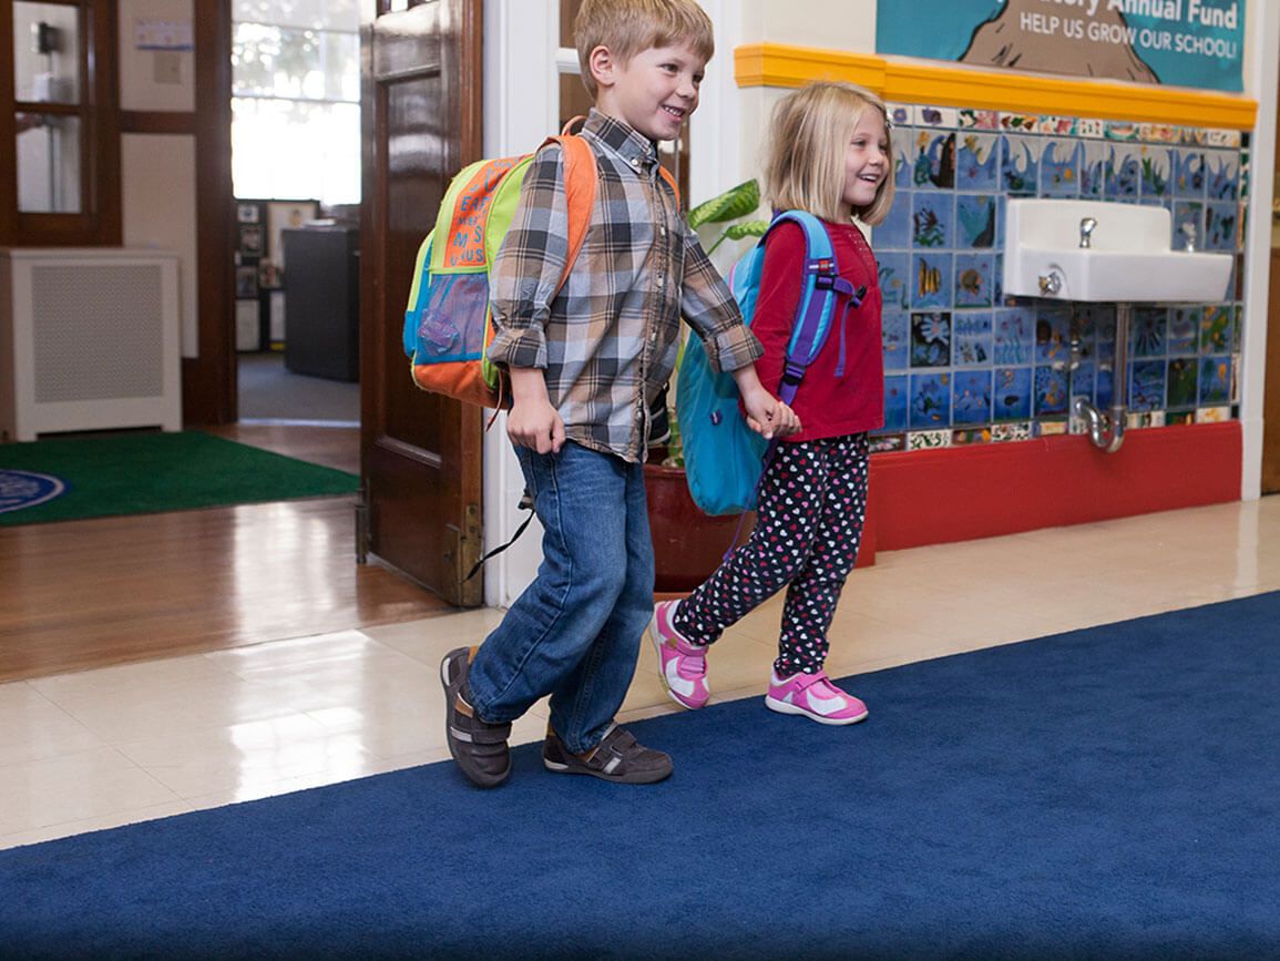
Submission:
[[[746,219],[755,214],[759,205],[759,184],[754,179],[748,180],[690,210],[689,225],[695,230],[705,224],[726,225],[707,248],[710,255],[724,241],[754,239],[764,234],[768,220]],[[676,367],[680,367],[678,358]],[[741,540],[750,534],[751,525],[733,516],[704,514],[694,503],[685,479],[675,392],[664,394],[669,439],[650,449],[644,470],[657,573],[654,590],[672,594],[692,590],[707,580],[733,545],[735,532]]]

